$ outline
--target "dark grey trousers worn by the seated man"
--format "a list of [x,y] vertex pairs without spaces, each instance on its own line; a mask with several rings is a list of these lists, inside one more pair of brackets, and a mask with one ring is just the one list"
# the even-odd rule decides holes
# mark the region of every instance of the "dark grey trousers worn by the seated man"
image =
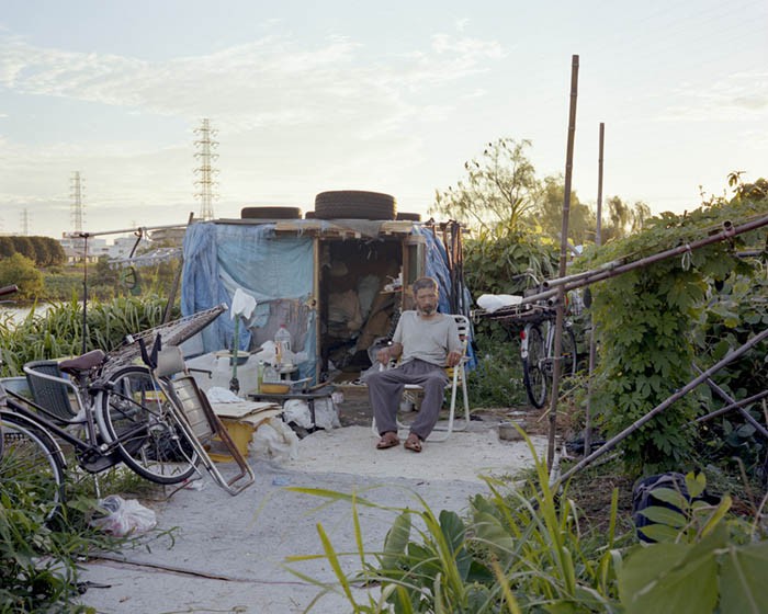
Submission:
[[410,432],[426,440],[438,421],[448,375],[443,367],[416,359],[396,368],[371,373],[365,377],[365,384],[380,434],[397,432],[397,409],[405,385],[421,386],[423,400]]

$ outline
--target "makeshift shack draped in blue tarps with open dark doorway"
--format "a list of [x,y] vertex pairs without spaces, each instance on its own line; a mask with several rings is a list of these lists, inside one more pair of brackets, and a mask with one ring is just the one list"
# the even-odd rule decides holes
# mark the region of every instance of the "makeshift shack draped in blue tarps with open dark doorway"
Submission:
[[[411,308],[407,288],[421,275],[438,280],[441,311],[468,315],[458,223],[283,219],[279,207],[263,209],[273,217],[251,217],[253,208],[244,208],[242,219],[194,223],[184,237],[183,315],[231,305],[238,287],[257,302],[238,326],[239,350],[257,351],[284,325],[297,377],[359,376],[371,366],[369,348]],[[231,350],[234,334],[233,319],[222,315],[202,332],[201,350]]]

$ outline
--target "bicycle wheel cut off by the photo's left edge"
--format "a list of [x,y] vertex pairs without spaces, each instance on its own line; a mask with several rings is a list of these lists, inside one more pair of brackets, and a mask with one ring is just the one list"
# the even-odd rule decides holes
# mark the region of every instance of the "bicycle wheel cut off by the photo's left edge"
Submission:
[[48,432],[23,416],[0,412],[0,490],[14,509],[41,510],[45,520],[64,501],[66,462]]

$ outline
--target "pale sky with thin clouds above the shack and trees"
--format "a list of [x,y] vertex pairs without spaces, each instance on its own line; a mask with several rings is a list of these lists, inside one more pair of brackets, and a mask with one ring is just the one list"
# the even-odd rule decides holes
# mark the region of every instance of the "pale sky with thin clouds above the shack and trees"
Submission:
[[768,177],[765,0],[0,0],[0,231],[184,224],[195,128],[215,217],[326,190],[426,214],[464,162],[529,139],[537,175],[682,213]]

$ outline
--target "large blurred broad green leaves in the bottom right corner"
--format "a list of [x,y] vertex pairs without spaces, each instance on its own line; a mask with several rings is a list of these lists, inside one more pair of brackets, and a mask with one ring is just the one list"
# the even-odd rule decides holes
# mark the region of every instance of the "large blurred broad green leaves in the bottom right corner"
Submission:
[[654,498],[680,511],[650,507],[643,512],[653,524],[642,531],[656,543],[635,546],[624,560],[619,593],[628,614],[768,611],[768,542],[743,521],[726,520],[727,494],[718,505],[696,500],[705,486],[703,474],[690,473],[690,499],[674,489],[654,490]]

